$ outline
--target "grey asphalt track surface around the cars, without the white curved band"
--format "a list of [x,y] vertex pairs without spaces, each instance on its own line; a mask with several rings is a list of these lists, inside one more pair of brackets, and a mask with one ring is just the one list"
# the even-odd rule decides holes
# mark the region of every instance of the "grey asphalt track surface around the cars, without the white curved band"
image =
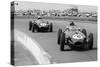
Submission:
[[[94,34],[94,48],[88,51],[60,51],[60,47],[57,44],[57,31],[59,28],[63,30],[66,28],[66,25],[69,24],[69,21],[64,20],[48,20],[49,22],[53,23],[53,32],[39,32],[39,33],[32,33],[29,31],[29,20],[32,19],[17,19],[15,18],[15,29],[24,32],[28,36],[32,37],[35,41],[37,41],[42,48],[52,56],[52,61],[56,63],[69,63],[69,62],[83,62],[83,61],[96,61],[97,60],[97,24],[91,23],[89,21],[75,21],[76,25],[85,28],[87,32],[92,32]],[[20,46],[20,45],[19,45]],[[24,48],[16,47],[15,54],[17,58],[23,58],[15,62],[17,65],[30,65],[32,64],[32,60],[28,59],[27,54],[25,53]],[[21,54],[20,51],[26,54]],[[27,58],[25,60],[25,57]],[[22,64],[21,64],[22,63]]]

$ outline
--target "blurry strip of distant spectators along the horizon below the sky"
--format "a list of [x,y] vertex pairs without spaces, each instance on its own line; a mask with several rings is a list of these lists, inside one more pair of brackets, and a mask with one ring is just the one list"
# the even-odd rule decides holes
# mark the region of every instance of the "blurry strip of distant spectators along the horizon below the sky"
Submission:
[[66,10],[17,10],[16,16],[73,16],[73,17],[97,17],[97,12],[79,12],[77,8]]

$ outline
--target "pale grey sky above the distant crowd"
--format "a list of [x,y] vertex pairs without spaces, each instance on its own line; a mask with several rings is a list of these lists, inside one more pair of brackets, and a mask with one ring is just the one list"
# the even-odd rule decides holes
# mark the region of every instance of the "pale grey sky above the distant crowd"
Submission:
[[18,3],[15,5],[15,10],[26,9],[40,9],[40,10],[65,10],[72,7],[77,7],[80,12],[96,12],[96,6],[87,5],[71,5],[71,4],[55,4],[55,3],[40,3],[40,2],[28,2],[28,1],[15,1]]

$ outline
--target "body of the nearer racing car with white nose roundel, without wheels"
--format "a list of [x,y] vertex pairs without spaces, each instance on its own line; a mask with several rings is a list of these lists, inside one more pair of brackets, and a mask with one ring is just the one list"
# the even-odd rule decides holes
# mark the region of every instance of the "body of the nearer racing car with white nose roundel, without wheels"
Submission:
[[65,39],[70,38],[70,43],[75,44],[77,42],[83,43],[86,36],[81,32],[78,26],[67,26],[65,31]]

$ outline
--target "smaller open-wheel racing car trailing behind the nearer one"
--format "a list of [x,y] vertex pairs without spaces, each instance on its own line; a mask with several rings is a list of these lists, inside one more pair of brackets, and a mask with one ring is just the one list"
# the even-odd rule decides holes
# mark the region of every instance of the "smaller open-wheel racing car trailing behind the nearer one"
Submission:
[[38,18],[33,21],[29,21],[29,30],[32,32],[52,32],[53,24],[43,20],[42,18]]

